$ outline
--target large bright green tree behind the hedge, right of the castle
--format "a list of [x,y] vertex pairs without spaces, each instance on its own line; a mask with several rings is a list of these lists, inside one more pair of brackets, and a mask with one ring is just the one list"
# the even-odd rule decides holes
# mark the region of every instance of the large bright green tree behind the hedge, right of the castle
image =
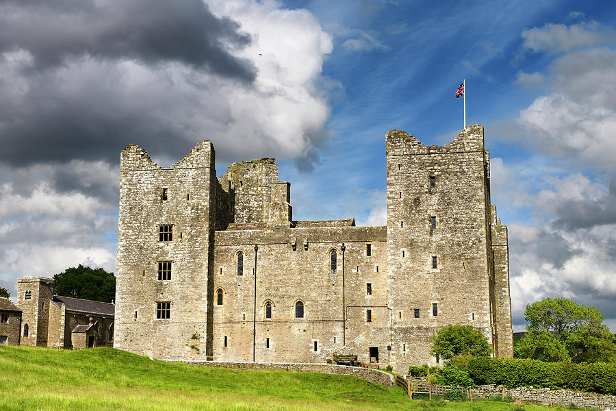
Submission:
[[566,298],[546,298],[526,306],[526,335],[514,347],[517,358],[543,361],[609,361],[614,335],[603,314]]

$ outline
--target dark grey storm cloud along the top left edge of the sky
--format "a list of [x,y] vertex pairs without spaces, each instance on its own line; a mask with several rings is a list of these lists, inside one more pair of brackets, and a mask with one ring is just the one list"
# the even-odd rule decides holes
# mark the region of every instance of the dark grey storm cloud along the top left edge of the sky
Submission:
[[253,66],[227,49],[250,41],[238,23],[214,16],[201,0],[0,1],[0,52],[25,49],[34,69],[90,55],[177,61],[251,82]]

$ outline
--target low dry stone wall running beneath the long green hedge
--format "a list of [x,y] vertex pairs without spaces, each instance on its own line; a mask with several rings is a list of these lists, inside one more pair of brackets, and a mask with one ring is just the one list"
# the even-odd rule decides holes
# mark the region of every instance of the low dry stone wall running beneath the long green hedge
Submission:
[[473,398],[489,398],[493,395],[511,397],[521,401],[535,401],[546,406],[574,404],[578,408],[595,408],[595,410],[616,409],[616,396],[584,393],[571,390],[550,390],[550,388],[503,388],[485,385],[473,389]]

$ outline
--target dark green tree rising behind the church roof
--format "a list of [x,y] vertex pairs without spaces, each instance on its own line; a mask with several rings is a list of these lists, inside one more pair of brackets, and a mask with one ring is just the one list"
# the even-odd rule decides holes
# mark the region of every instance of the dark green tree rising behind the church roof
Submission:
[[116,277],[103,269],[79,264],[53,276],[53,292],[64,297],[110,303],[116,298]]

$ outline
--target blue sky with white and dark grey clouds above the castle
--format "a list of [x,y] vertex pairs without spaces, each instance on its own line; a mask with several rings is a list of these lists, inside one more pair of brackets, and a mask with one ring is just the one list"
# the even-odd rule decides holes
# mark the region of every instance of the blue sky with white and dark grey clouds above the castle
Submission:
[[[514,329],[565,296],[616,329],[616,5],[115,0],[0,5],[0,286],[115,271],[118,160],[272,156],[296,219],[385,223],[385,133],[485,126]],[[123,37],[124,36],[124,37]],[[188,47],[187,47],[188,45]]]

